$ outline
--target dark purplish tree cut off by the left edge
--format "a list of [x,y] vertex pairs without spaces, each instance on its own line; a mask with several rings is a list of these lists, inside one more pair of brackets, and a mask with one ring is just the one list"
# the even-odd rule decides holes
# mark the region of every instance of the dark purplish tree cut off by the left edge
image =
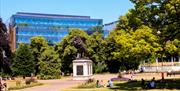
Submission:
[[12,52],[7,37],[7,28],[0,18],[0,72],[11,73],[11,56]]

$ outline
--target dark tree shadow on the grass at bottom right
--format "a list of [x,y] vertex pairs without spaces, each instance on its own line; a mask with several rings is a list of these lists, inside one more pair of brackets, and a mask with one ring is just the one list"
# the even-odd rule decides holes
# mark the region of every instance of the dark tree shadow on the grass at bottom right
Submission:
[[[146,81],[148,83],[150,81]],[[116,90],[129,90],[139,91],[143,90],[141,81],[127,81],[127,82],[115,82],[114,87],[110,89]],[[155,89],[178,89],[180,90],[180,79],[165,79],[164,81],[156,80]]]

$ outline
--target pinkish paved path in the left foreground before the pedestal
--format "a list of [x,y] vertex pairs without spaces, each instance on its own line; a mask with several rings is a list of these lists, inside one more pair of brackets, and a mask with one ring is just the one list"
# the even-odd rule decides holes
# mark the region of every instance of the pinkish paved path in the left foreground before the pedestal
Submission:
[[61,91],[61,89],[70,88],[76,86],[84,81],[74,81],[72,77],[56,80],[39,80],[40,83],[44,83],[42,86],[35,86],[18,91]]

